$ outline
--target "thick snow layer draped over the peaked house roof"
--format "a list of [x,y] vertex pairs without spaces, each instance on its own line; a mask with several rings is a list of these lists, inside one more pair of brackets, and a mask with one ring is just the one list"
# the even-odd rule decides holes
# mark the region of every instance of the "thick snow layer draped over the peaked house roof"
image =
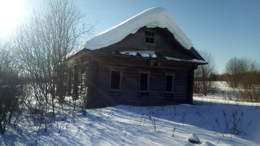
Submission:
[[140,14],[84,41],[78,48],[69,53],[67,57],[76,54],[84,48],[95,50],[117,43],[127,35],[136,33],[144,26],[148,28],[167,28],[185,49],[193,47],[192,42],[172,20],[170,13],[164,8],[155,7],[143,11]]

